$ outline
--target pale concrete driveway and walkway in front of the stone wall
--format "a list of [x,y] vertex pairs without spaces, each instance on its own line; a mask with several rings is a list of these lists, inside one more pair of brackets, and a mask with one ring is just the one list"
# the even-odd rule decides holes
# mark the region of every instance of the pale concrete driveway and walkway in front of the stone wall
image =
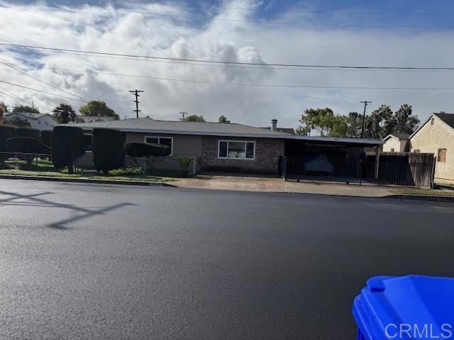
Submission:
[[284,181],[275,176],[221,176],[198,175],[192,179],[172,182],[180,188],[200,188],[234,191],[261,191],[274,193],[316,193],[321,195],[384,197],[392,195],[389,188],[330,182]]

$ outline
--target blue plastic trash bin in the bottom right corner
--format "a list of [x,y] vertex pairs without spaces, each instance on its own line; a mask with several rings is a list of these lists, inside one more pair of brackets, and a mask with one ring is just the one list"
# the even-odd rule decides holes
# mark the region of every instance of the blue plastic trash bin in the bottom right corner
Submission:
[[454,340],[454,278],[370,278],[353,316],[358,340]]

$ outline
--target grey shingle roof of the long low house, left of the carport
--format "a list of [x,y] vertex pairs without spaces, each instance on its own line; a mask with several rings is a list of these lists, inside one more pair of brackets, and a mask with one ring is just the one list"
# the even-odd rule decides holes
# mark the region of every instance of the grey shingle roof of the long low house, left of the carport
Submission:
[[[72,125],[74,126],[74,125]],[[240,137],[286,137],[289,134],[236,123],[182,122],[135,118],[104,122],[78,123],[78,128],[111,128],[124,132],[170,133],[179,135],[224,135]]]

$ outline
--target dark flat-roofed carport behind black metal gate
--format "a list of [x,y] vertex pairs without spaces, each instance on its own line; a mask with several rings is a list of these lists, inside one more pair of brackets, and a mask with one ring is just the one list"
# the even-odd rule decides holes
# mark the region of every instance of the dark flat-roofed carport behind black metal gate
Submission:
[[362,138],[292,136],[285,140],[279,171],[285,180],[376,181],[382,145]]

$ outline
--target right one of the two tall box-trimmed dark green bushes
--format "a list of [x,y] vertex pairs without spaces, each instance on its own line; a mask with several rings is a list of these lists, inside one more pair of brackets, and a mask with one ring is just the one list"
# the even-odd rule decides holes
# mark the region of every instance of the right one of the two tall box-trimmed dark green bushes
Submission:
[[112,129],[93,129],[93,161],[97,171],[107,174],[123,166],[123,137]]

